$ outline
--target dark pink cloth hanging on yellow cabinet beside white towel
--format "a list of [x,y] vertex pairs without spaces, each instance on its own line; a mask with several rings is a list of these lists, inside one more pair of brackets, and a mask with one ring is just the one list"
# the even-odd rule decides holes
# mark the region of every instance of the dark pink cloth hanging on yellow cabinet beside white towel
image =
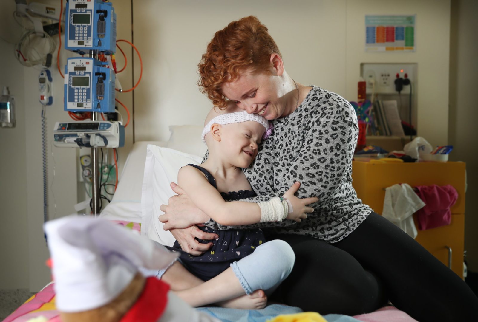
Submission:
[[418,186],[417,195],[426,204],[424,208],[417,211],[418,229],[432,229],[440,226],[449,225],[451,221],[451,211],[458,193],[450,185],[439,187]]

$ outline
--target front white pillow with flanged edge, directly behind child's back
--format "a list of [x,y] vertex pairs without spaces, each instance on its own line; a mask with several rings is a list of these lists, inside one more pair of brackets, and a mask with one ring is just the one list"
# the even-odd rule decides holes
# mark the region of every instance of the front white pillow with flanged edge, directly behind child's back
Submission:
[[164,224],[158,219],[163,214],[159,207],[166,205],[175,195],[170,184],[177,182],[179,169],[188,163],[198,165],[201,161],[200,156],[148,145],[141,192],[141,235],[162,245],[173,246],[173,235],[163,229]]

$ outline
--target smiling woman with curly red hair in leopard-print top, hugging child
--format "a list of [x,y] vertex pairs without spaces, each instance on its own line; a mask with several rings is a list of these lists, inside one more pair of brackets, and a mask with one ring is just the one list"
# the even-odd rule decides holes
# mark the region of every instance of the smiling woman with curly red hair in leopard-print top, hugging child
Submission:
[[[478,321],[478,299],[464,281],[357,197],[351,175],[359,128],[352,106],[336,93],[293,80],[256,17],[217,31],[198,68],[199,85],[215,106],[237,105],[274,126],[244,169],[258,195],[250,201],[280,197],[295,181],[301,182],[298,197],[319,197],[310,205],[315,211],[300,223],[240,227],[261,227],[268,240],[285,240],[294,250],[293,271],[276,300],[304,311],[348,315],[390,300],[418,321]],[[200,254],[211,243],[195,237],[212,236],[198,232],[196,224],[231,227],[211,220],[179,186],[172,187],[179,196],[161,207],[160,220],[185,251]],[[179,280],[174,271],[164,277]]]

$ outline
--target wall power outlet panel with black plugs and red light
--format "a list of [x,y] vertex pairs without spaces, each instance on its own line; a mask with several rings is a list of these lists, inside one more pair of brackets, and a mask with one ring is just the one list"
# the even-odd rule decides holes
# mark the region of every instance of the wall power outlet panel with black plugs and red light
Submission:
[[[360,75],[367,83],[367,94],[397,94],[395,90],[395,79],[399,77],[407,78],[415,88],[417,80],[416,63],[361,63]],[[374,84],[375,83],[375,84]],[[403,86],[402,94],[410,93],[410,86]]]

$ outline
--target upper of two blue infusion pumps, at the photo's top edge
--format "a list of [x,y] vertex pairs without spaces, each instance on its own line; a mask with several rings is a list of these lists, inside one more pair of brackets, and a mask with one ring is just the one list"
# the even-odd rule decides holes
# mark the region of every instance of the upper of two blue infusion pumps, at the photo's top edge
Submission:
[[110,2],[70,0],[65,10],[65,49],[80,54],[116,52],[116,13]]

